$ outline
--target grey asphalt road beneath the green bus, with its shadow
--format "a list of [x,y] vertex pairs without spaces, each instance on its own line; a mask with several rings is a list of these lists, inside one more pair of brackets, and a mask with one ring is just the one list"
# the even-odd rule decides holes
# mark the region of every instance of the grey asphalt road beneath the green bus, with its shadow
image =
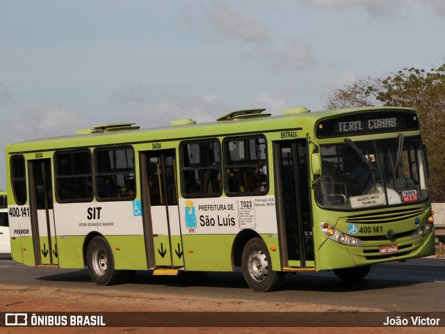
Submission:
[[[97,289],[88,271],[79,269],[32,268],[0,255],[0,283],[45,287]],[[108,287],[101,287],[107,289]],[[297,273],[286,276],[283,289],[254,293],[236,273],[184,273],[180,276],[152,276],[138,271],[131,284],[113,286],[122,292],[154,292],[186,296],[237,298],[275,303],[300,302],[349,306],[386,311],[445,311],[445,259],[391,262],[371,269],[360,284],[343,283],[331,272]]]

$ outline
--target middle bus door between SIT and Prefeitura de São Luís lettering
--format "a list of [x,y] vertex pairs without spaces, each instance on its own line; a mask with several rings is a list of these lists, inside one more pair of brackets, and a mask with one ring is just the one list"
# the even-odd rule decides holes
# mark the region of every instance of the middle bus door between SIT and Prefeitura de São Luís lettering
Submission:
[[149,267],[184,267],[175,150],[144,152],[141,162]]

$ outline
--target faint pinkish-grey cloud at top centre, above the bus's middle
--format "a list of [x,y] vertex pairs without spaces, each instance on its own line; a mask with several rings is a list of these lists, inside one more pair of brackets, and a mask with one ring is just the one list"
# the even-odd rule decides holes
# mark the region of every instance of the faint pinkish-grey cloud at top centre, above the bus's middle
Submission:
[[216,3],[207,15],[216,30],[223,35],[248,42],[264,42],[270,38],[266,27],[256,22],[252,15],[237,13],[224,2]]

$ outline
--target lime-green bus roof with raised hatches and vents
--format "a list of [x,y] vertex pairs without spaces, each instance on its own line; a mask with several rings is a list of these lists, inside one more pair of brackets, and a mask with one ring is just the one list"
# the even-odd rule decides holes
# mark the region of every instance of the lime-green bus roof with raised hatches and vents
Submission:
[[[237,133],[261,132],[273,129],[296,129],[303,125],[315,125],[316,120],[339,116],[358,111],[414,111],[414,109],[394,106],[371,106],[328,111],[309,112],[305,108],[285,109],[282,115],[270,116],[262,113],[266,109],[247,109],[227,113],[214,122],[196,123],[191,119],[172,121],[167,127],[140,129],[132,122],[97,125],[76,131],[69,136],[37,138],[8,145],[7,151],[24,152],[33,149],[61,149],[70,147],[89,147],[96,145],[137,143],[146,141],[182,140],[184,138],[208,138],[209,136],[227,136]],[[270,116],[270,117],[269,117]],[[180,130],[180,134],[178,134]],[[216,132],[216,130],[218,132]]]

